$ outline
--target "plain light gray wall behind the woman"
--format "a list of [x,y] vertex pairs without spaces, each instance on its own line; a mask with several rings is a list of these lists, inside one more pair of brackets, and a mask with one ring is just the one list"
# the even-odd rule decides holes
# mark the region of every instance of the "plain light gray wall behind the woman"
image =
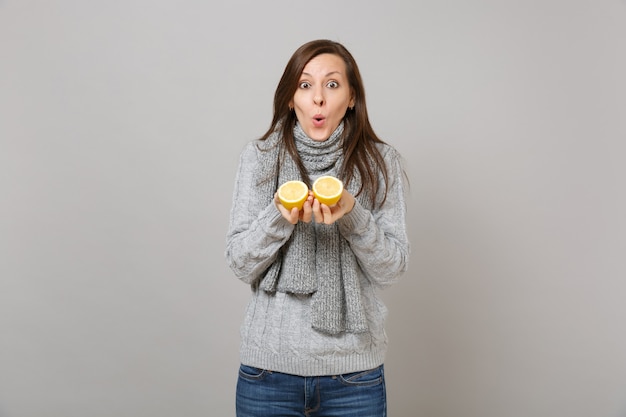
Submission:
[[626,2],[0,0],[0,416],[234,415],[239,151],[291,53],[405,156],[391,416],[626,416]]

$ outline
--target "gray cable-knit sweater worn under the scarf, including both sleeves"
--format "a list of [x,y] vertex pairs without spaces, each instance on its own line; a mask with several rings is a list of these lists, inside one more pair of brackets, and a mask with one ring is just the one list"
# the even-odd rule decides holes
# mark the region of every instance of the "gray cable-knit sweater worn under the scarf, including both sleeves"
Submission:
[[[241,153],[226,244],[230,268],[247,284],[258,282],[294,231],[294,225],[281,216],[273,202],[259,204],[255,178],[261,160],[258,144],[249,143]],[[379,145],[379,149],[389,171],[384,205],[370,211],[357,200],[352,211],[338,220],[339,232],[358,260],[368,331],[338,335],[316,331],[311,327],[311,296],[268,293],[252,285],[241,326],[243,364],[315,376],[357,372],[384,362],[387,309],[376,290],[394,283],[406,270],[409,242],[401,160],[391,146]]]

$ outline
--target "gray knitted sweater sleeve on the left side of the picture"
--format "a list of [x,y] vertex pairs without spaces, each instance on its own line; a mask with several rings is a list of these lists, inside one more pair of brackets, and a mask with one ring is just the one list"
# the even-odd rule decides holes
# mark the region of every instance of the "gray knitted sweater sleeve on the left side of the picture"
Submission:
[[258,152],[252,142],[241,153],[226,237],[226,260],[235,276],[248,284],[272,264],[294,229],[273,200],[261,201],[254,178]]

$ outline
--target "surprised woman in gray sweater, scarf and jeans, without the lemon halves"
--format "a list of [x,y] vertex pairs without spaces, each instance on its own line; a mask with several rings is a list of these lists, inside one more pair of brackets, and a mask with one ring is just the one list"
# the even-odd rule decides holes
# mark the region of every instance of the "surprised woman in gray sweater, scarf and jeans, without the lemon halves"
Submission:
[[[287,210],[278,187],[319,176],[339,202],[311,192]],[[241,327],[237,416],[385,416],[386,308],[376,290],[407,268],[405,183],[396,150],[370,125],[357,64],[316,40],[291,57],[269,130],[245,147],[226,258],[252,288]]]

